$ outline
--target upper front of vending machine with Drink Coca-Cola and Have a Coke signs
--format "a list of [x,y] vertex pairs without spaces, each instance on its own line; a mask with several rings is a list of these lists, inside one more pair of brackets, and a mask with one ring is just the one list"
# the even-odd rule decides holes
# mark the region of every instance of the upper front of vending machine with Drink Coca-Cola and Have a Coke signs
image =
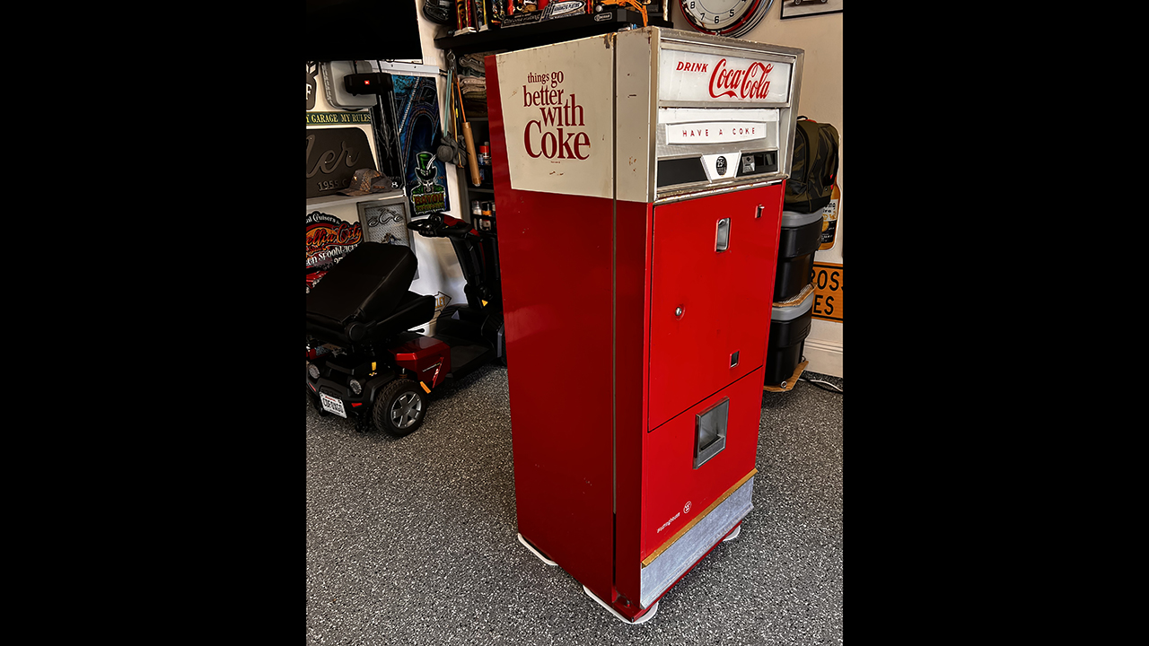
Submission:
[[[681,30],[618,36],[620,199],[680,199],[789,176],[803,51]],[[645,123],[640,123],[643,122]],[[645,131],[642,141],[627,134]],[[632,164],[633,167],[633,164]],[[625,169],[619,169],[622,172]]]

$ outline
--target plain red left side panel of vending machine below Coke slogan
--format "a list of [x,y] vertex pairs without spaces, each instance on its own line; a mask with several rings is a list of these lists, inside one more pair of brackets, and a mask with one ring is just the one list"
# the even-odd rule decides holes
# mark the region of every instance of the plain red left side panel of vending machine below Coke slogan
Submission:
[[[498,67],[486,60],[487,87]],[[611,599],[611,218],[602,198],[515,191],[487,92],[519,532]]]

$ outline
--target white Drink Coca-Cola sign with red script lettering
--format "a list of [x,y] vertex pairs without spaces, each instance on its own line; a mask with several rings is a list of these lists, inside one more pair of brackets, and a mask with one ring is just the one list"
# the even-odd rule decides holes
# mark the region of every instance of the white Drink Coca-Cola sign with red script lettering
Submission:
[[658,99],[784,103],[789,100],[793,64],[737,56],[663,49]]

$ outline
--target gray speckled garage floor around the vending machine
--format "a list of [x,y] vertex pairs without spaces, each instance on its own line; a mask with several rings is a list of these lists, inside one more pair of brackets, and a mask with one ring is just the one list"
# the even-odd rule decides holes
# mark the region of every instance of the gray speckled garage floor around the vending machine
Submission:
[[307,643],[841,644],[842,397],[763,393],[741,536],[640,625],[516,540],[504,368],[439,394],[402,439],[308,406]]

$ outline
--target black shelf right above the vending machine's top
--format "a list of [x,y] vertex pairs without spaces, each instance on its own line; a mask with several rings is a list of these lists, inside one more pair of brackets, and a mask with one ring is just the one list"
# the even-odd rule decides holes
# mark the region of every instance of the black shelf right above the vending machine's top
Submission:
[[[603,18],[608,14],[611,17]],[[632,9],[615,8],[597,14],[579,14],[535,24],[435,38],[434,46],[440,49],[450,49],[457,56],[476,52],[511,52],[610,33],[630,25],[641,28],[642,14]],[[650,25],[671,26],[669,21],[658,18],[650,18]]]

